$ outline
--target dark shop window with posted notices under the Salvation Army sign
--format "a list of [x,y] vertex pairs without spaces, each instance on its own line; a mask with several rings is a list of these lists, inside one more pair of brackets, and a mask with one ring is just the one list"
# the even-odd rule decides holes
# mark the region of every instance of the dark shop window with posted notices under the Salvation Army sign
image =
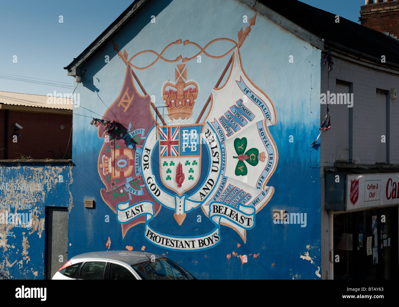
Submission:
[[398,278],[398,207],[334,215],[334,279]]

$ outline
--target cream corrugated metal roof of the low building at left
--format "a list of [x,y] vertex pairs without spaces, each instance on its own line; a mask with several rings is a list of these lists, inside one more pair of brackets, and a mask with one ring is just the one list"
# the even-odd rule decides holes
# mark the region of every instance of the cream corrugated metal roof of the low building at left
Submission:
[[[70,95],[70,94],[68,94]],[[67,96],[67,95],[65,95]],[[45,95],[23,94],[0,91],[0,103],[5,105],[23,105],[49,109],[72,110],[73,101],[67,97],[49,97]]]

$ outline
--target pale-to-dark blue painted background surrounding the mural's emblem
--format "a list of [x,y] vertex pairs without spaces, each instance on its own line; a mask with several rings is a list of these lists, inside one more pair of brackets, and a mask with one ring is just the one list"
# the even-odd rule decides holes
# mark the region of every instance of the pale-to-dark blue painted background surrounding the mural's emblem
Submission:
[[[236,0],[154,0],[142,8],[112,40],[118,44],[119,50],[126,50],[127,59],[142,50],[160,53],[170,42],[179,39],[190,40],[201,47],[216,38],[237,41],[237,31],[241,27],[245,30],[249,25],[243,22],[243,16],[249,19],[254,14],[249,6]],[[99,29],[101,31],[103,29]],[[228,41],[215,42],[206,52],[214,56],[223,55],[233,46]],[[194,45],[179,44],[168,48],[162,57],[192,57],[198,51]],[[199,86],[193,109],[194,119],[232,53],[233,51],[220,59],[210,58],[202,53],[200,62],[195,58],[185,63],[187,80],[194,80]],[[69,257],[105,250],[109,238],[110,250],[133,248],[164,254],[198,278],[320,278],[320,169],[317,168],[320,166],[320,154],[312,149],[311,159],[309,149],[314,141],[314,131],[320,125],[320,50],[258,13],[256,24],[252,26],[240,53],[243,69],[252,84],[261,89],[274,105],[277,120],[275,125],[269,125],[269,133],[279,157],[275,171],[267,182],[267,186],[273,186],[274,194],[261,210],[257,210],[255,226],[246,231],[245,242],[238,232],[221,225],[220,242],[217,245],[206,250],[177,251],[149,242],[144,236],[145,223],[138,223],[127,230],[122,229],[116,212],[111,210],[110,204],[105,202],[100,192],[106,183],[99,176],[99,160],[101,161],[105,139],[99,137],[98,129],[89,125],[91,117],[101,118],[115,112],[116,105],[112,106],[112,103],[119,97],[124,85],[126,64],[117,55],[117,51],[114,51],[112,42],[108,42],[83,65],[85,75],[82,83],[75,83],[75,93],[80,93],[81,107],[75,108],[73,114],[75,166],[72,170],[71,192],[74,206],[69,215]],[[289,61],[290,55],[293,55],[293,63]],[[132,64],[144,67],[155,59],[156,55],[144,53],[133,59]],[[168,81],[175,82],[174,70],[177,68],[176,64],[181,63],[182,61],[168,63],[159,60],[148,69],[133,68],[148,95],[153,96],[156,106],[164,105],[162,86]],[[226,77],[221,84],[225,79]],[[136,87],[139,88],[137,84]],[[138,92],[140,93],[139,89]],[[237,100],[240,98],[242,97],[237,97]],[[120,113],[122,115],[117,114],[117,117],[124,119],[124,128],[127,128],[128,123],[132,124],[132,130],[141,128],[135,123],[138,120],[135,114],[139,110],[146,112],[146,122],[152,122],[153,112],[148,103],[129,108]],[[205,120],[208,110],[209,108],[202,120]],[[129,120],[129,116],[132,120]],[[148,130],[144,136],[148,136]],[[250,137],[248,138],[249,149],[252,145]],[[140,142],[143,145],[143,140]],[[154,159],[157,158],[158,156]],[[206,160],[205,156],[203,160]],[[237,160],[227,164],[226,170],[234,171],[236,162]],[[143,181],[140,184],[144,184]],[[143,188],[148,194],[147,186]],[[124,188],[121,190],[121,194],[125,193]],[[111,199],[109,202],[115,208],[118,203],[125,201],[122,201],[123,197],[127,196],[116,196],[115,200]],[[143,201],[142,198],[135,200],[137,196],[131,197],[130,204],[138,202],[136,200]],[[85,199],[95,200],[96,208],[84,208]],[[147,200],[157,203],[151,196]],[[173,216],[174,211],[167,205],[159,208],[156,206],[154,209],[159,211],[148,222],[148,226],[168,236],[193,237],[211,232],[215,227],[205,215],[208,212],[199,207],[186,212],[181,226]],[[306,214],[306,227],[301,227],[300,224],[275,224],[273,210]],[[198,222],[198,216],[201,216],[201,222]]]

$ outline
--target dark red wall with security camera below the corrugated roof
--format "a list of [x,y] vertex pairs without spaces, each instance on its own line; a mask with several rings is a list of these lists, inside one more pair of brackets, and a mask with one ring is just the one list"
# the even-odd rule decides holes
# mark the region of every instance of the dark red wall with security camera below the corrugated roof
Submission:
[[[0,149],[4,146],[5,111],[0,111]],[[14,124],[18,123],[23,129],[15,131],[17,143],[13,143]],[[65,128],[61,129],[61,125]],[[67,148],[69,133],[71,132],[72,116],[48,113],[10,111],[8,127],[8,158],[15,159],[21,153],[35,159],[52,158],[49,151],[60,155],[61,151],[72,151],[72,135]],[[0,159],[4,159],[4,149],[0,151]]]

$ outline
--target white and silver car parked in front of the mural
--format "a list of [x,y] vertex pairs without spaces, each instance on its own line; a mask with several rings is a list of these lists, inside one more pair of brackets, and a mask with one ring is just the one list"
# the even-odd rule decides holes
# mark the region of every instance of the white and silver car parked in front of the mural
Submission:
[[106,251],[69,259],[52,279],[196,279],[172,260],[145,252]]

